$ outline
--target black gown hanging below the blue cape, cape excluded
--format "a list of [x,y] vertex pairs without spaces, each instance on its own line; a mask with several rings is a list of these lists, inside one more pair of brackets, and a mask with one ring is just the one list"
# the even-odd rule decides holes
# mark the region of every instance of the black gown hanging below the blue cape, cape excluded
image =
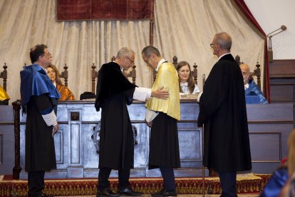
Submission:
[[40,111],[55,108],[48,94],[31,96],[26,104],[26,159],[25,169],[51,171],[56,168],[56,152],[52,137],[53,126],[47,126]]

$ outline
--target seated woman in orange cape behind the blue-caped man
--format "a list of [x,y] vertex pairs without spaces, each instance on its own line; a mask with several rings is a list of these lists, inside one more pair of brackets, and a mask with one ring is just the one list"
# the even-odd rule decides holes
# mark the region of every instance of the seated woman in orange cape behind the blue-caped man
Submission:
[[53,64],[49,65],[46,69],[47,75],[49,79],[52,81],[53,85],[56,86],[59,94],[61,94],[61,98],[58,98],[58,101],[65,101],[65,100],[75,100],[75,96],[73,93],[68,89],[67,86],[63,86],[61,84],[61,79],[59,79],[58,69]]

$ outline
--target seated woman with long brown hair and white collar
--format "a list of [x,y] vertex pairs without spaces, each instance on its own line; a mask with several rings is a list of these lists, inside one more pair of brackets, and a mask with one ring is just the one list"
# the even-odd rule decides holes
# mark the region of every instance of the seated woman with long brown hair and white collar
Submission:
[[180,61],[176,70],[179,76],[178,81],[180,82],[180,94],[196,94],[200,93],[200,89],[195,84],[192,77],[192,71],[190,70],[190,64],[187,61]]

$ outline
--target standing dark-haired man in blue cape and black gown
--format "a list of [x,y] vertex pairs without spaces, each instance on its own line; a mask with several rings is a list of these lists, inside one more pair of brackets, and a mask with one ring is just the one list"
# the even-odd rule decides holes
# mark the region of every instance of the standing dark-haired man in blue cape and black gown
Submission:
[[53,134],[58,131],[56,103],[60,94],[46,74],[51,54],[46,45],[31,49],[33,65],[21,71],[21,106],[26,113],[25,170],[28,172],[28,196],[43,193],[45,171],[56,168]]

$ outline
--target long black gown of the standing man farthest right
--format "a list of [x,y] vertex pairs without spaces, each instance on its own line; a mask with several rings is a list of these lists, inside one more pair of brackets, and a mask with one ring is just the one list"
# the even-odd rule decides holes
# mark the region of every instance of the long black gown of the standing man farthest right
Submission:
[[231,54],[219,59],[205,82],[198,126],[202,123],[205,166],[217,172],[252,168],[242,72]]

